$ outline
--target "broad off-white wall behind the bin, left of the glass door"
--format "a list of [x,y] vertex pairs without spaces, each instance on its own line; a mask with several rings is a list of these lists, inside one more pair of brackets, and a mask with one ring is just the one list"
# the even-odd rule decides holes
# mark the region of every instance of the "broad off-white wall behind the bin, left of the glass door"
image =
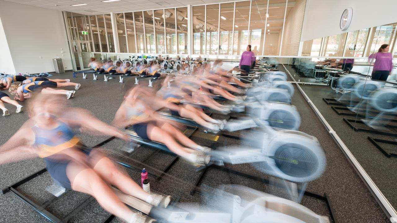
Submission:
[[55,71],[57,57],[73,69],[61,11],[0,0],[0,18],[17,73]]

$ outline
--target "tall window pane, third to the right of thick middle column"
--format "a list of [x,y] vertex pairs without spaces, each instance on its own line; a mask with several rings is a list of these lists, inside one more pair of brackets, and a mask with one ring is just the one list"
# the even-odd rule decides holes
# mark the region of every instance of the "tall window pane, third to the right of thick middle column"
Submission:
[[219,54],[232,52],[234,3],[221,4]]

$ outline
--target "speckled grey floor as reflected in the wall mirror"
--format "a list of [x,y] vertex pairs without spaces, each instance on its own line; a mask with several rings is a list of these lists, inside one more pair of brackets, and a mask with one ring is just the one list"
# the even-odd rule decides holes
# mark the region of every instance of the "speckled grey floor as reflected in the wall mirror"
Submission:
[[[291,74],[294,74],[295,71],[293,69],[288,69]],[[296,79],[296,78],[295,78]],[[313,79],[313,78],[312,78]],[[325,119],[330,123],[333,130],[339,135],[339,137],[343,140],[345,145],[349,148],[349,150],[353,153],[355,158],[358,160],[360,165],[364,168],[364,170],[371,177],[372,181],[378,186],[378,188],[382,191],[387,200],[394,206],[397,207],[397,192],[395,190],[395,181],[397,179],[397,173],[395,171],[395,167],[397,165],[397,158],[387,158],[380,150],[378,150],[374,144],[372,144],[368,140],[368,136],[372,138],[384,139],[393,141],[396,140],[397,137],[393,136],[385,136],[373,133],[365,133],[360,131],[353,131],[343,118],[352,119],[360,121],[361,119],[365,119],[364,117],[356,117],[350,115],[338,115],[331,107],[344,107],[339,105],[328,105],[323,100],[323,98],[339,98],[341,94],[337,94],[335,91],[331,90],[328,86],[318,86],[318,85],[301,85],[304,92],[308,95],[310,100],[316,105],[318,110],[322,113]],[[344,98],[350,99],[350,93],[347,93]],[[358,102],[358,98],[353,98],[354,101]],[[345,101],[347,103],[347,101]],[[362,107],[368,106],[365,102],[363,102]],[[349,110],[339,110],[343,113],[351,113]],[[365,115],[364,108],[360,109],[359,115]],[[387,118],[396,119],[396,115],[394,117],[389,116]],[[352,124],[357,128],[370,129],[363,123],[355,123]],[[391,123],[395,125],[395,123]],[[386,130],[388,131],[388,130]],[[389,131],[397,134],[396,131]],[[395,145],[391,144],[382,144],[382,147],[385,148],[387,152],[396,153]]]

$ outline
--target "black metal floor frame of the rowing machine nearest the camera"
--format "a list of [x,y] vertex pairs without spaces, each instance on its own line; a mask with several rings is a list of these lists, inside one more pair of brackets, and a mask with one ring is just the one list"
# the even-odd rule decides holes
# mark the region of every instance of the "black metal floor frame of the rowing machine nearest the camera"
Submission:
[[[102,146],[102,145],[110,142],[114,138],[115,137],[108,138],[107,140],[97,144],[94,147]],[[54,201],[57,198],[56,196],[52,196],[52,198],[50,200],[47,200],[44,204],[37,204],[17,190],[18,186],[23,185],[24,183],[27,183],[31,179],[34,179],[34,178],[40,176],[41,174],[45,173],[46,171],[47,171],[46,168],[40,169],[36,173],[33,173],[33,174],[21,179],[17,183],[14,183],[13,185],[10,185],[10,186],[2,189],[1,193],[6,194],[7,192],[12,192],[15,196],[21,198],[21,200],[23,200],[24,202],[29,204],[29,206],[31,206],[35,211],[37,211],[37,213],[39,213],[40,215],[42,215],[43,217],[45,217],[46,219],[48,219],[49,221],[51,221],[53,223],[66,223],[67,221],[69,221],[69,219],[71,217],[73,217],[73,215],[75,213],[79,212],[81,209],[83,209],[91,201],[94,200],[94,198],[90,196],[89,198],[85,199],[77,208],[75,208],[71,212],[67,213],[67,215],[64,218],[60,219],[45,209],[52,201]]]

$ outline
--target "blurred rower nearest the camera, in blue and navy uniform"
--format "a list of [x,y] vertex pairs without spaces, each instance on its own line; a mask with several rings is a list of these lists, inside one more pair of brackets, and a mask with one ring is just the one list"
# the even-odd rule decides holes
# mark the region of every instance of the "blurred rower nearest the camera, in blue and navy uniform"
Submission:
[[59,96],[39,94],[32,101],[31,119],[2,146],[0,164],[37,156],[44,158],[54,182],[90,194],[106,211],[128,223],[147,221],[121,202],[111,185],[154,206],[168,205],[169,196],[145,192],[104,154],[83,146],[73,129],[83,128],[129,141],[122,131],[96,119],[88,111],[67,108],[67,102]]

